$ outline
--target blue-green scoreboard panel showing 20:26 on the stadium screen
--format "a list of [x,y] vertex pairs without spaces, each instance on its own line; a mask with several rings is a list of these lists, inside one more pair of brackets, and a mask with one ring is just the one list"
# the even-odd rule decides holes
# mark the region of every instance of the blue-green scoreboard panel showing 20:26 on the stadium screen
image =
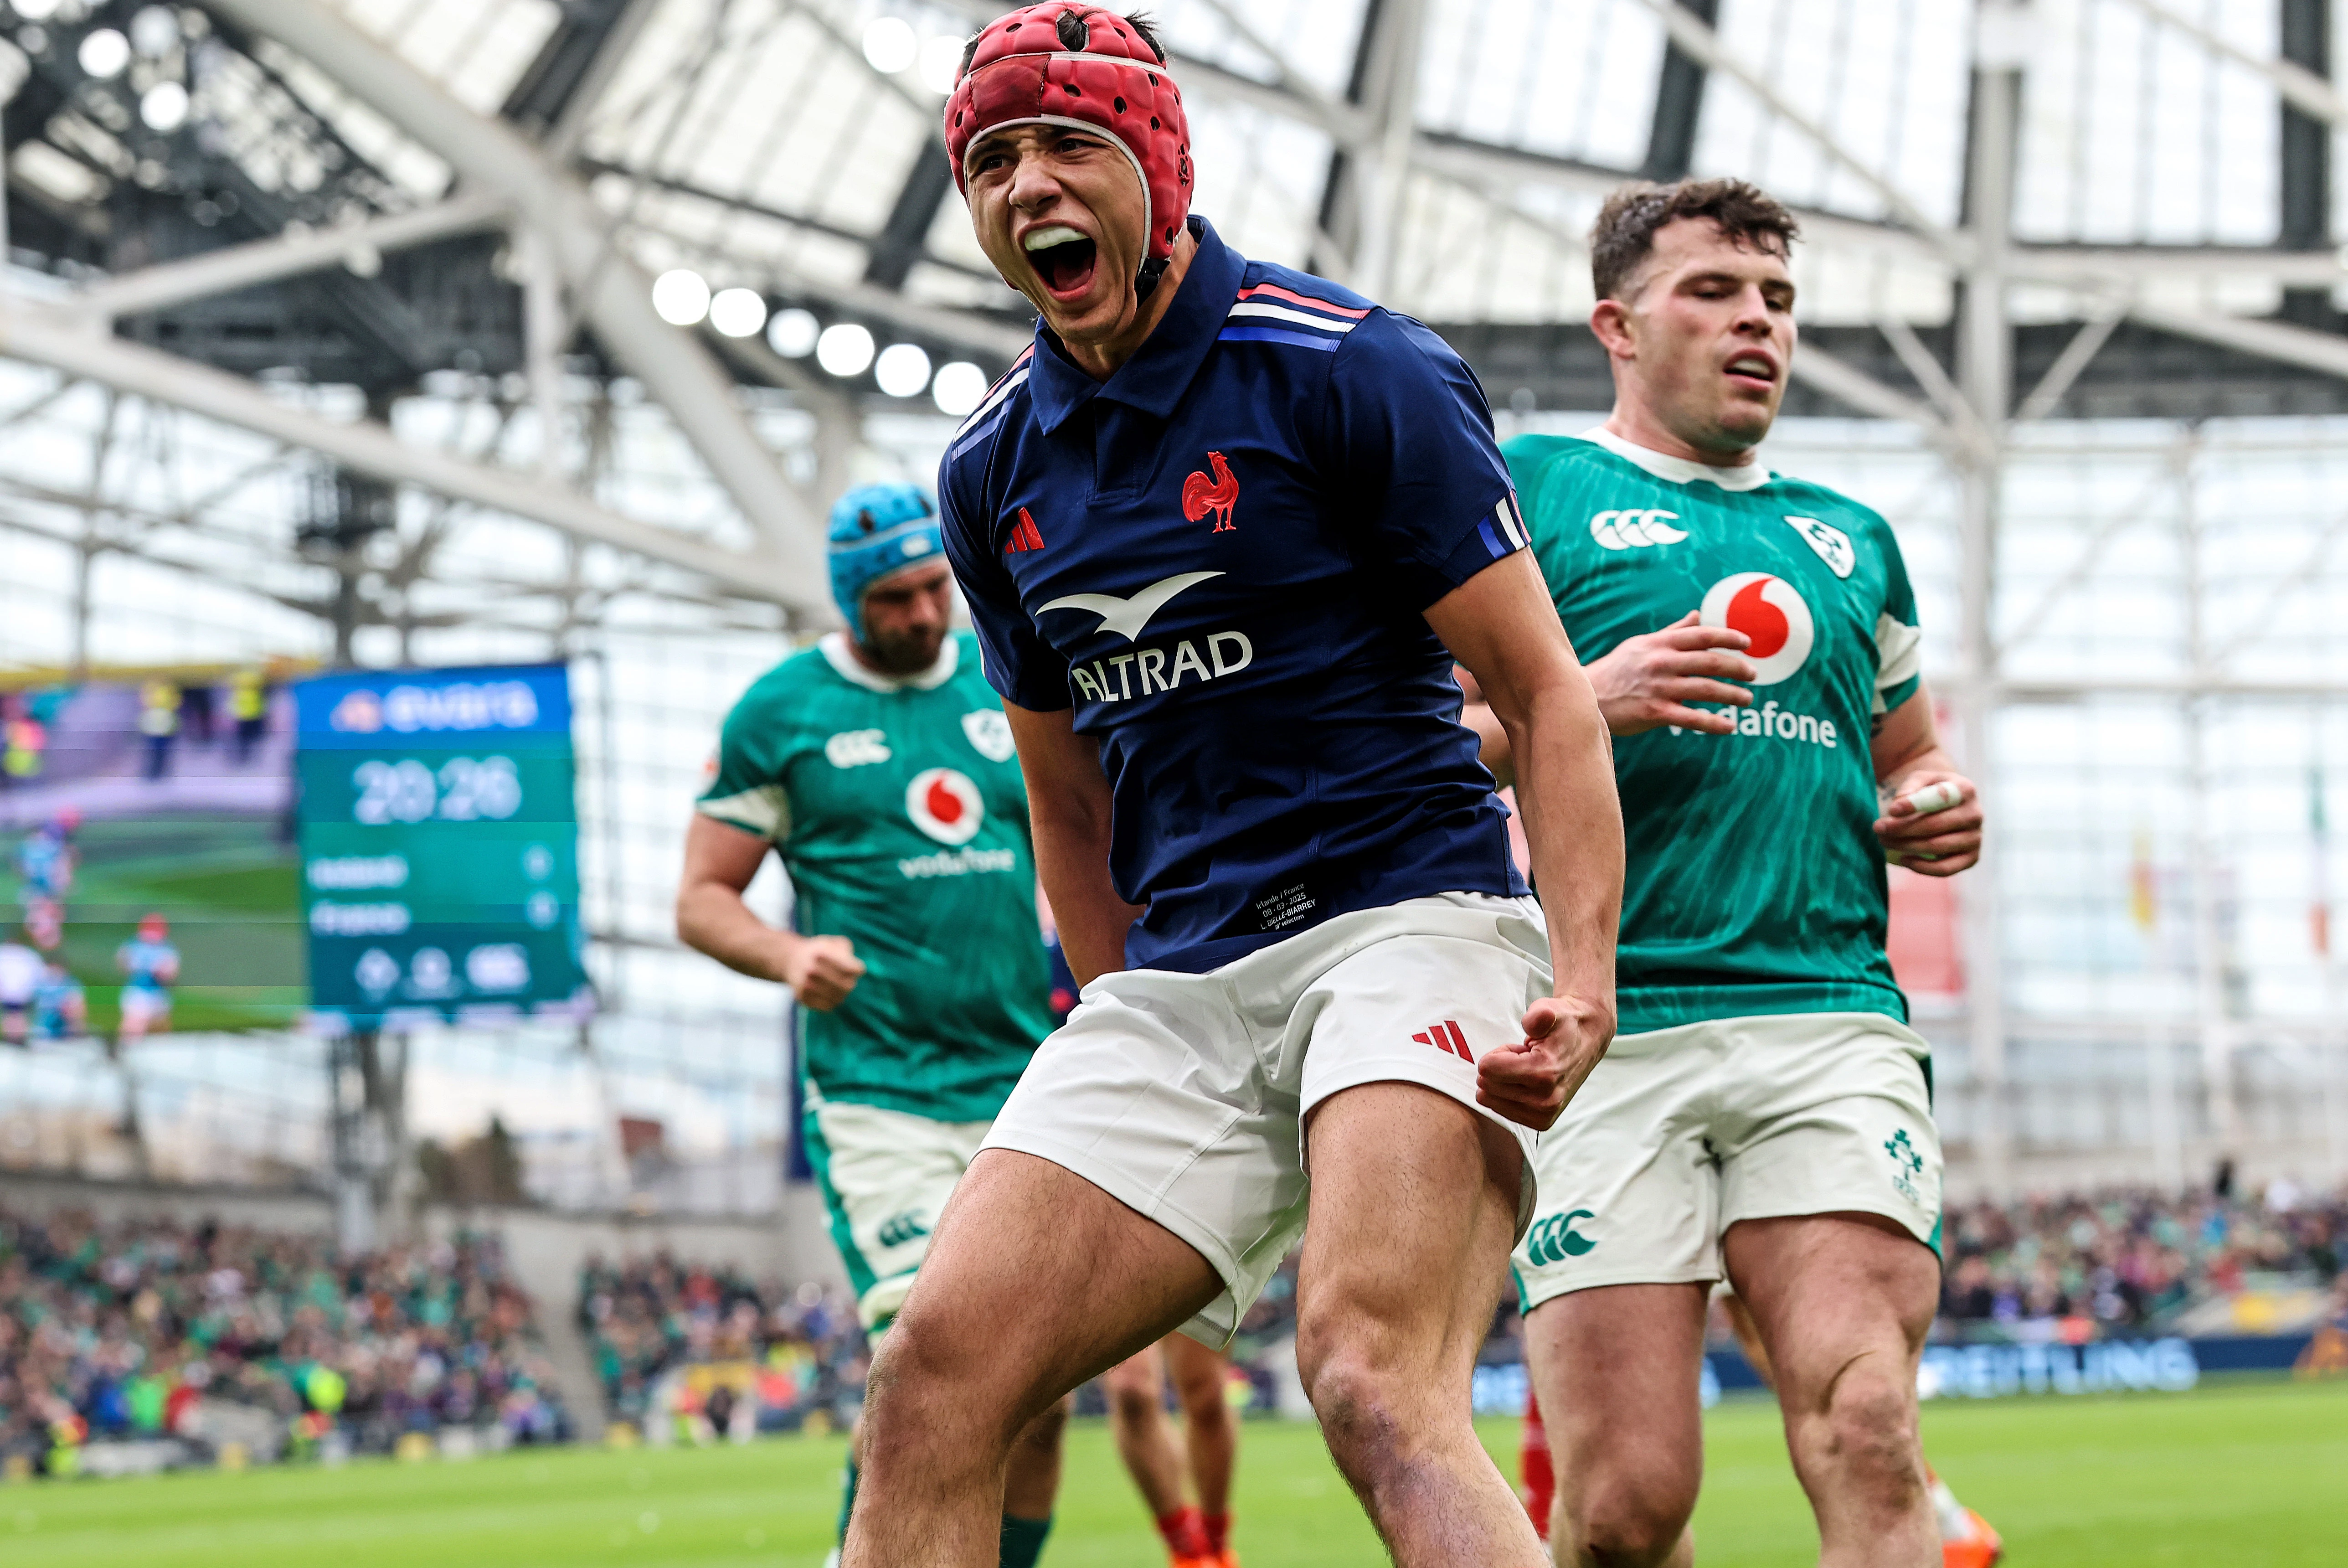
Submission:
[[343,671],[294,697],[317,1023],[592,1012],[568,671]]

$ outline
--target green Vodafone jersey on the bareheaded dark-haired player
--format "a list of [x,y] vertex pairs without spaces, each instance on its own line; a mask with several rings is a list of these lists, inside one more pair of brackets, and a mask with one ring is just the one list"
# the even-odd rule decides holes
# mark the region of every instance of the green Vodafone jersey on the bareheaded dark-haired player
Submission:
[[1768,469],[1712,469],[1606,432],[1500,448],[1573,650],[1702,610],[1752,636],[1735,735],[1615,739],[1627,864],[1625,1035],[1700,1019],[1881,1012],[1874,716],[1916,695],[1916,596],[1890,523]]

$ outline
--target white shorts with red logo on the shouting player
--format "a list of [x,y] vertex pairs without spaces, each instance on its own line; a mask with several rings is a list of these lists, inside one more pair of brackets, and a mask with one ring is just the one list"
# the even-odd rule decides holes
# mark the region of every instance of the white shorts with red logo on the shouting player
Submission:
[[1475,1103],[1475,1056],[1524,1040],[1550,995],[1533,899],[1446,892],[1336,915],[1209,974],[1125,969],[1085,986],[986,1148],[1061,1164],[1195,1246],[1223,1293],[1183,1333],[1230,1340],[1305,1225],[1303,1120],[1371,1082]]

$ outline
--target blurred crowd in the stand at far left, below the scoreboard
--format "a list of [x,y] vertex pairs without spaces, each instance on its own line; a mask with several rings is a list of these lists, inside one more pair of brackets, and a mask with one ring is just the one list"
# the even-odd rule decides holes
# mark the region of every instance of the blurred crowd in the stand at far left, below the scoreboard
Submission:
[[235,1225],[0,1211],[0,1458],[68,1474],[94,1439],[193,1458],[390,1451],[568,1422],[495,1239],[343,1258]]

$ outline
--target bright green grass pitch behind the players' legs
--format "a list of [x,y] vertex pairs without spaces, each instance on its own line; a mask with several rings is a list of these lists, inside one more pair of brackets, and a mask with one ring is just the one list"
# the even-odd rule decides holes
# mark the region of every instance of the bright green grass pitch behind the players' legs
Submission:
[[[1484,1437],[1514,1472],[1517,1425]],[[1698,1561],[1815,1561],[1775,1406],[1707,1418]],[[2348,1561],[2348,1385],[1930,1406],[1925,1448],[2008,1542],[2012,1568]],[[0,1488],[9,1568],[815,1568],[831,1547],[838,1439],[716,1451],[507,1453],[463,1465],[355,1462]],[[1374,1566],[1345,1483],[1296,1422],[1242,1437],[1237,1547],[1249,1568]],[[1108,1432],[1068,1446],[1047,1568],[1155,1568]]]

